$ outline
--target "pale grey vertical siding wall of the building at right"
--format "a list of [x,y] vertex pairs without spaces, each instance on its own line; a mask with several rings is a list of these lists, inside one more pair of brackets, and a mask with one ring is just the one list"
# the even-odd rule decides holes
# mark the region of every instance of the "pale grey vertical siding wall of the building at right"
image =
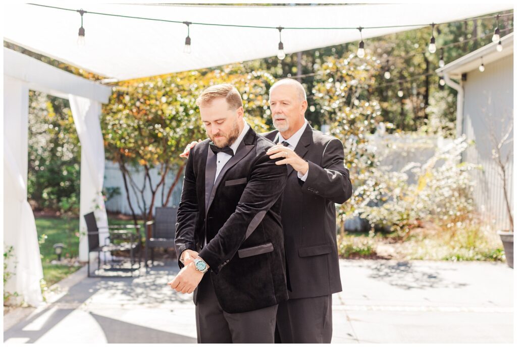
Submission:
[[[513,118],[513,54],[491,64],[485,71],[478,69],[467,73],[463,83],[465,90],[463,133],[475,140],[463,155],[463,160],[480,164],[482,171],[474,173],[476,181],[474,199],[485,220],[495,228],[508,229],[508,213],[499,169],[492,159],[493,145],[489,138],[490,126],[498,139],[506,133],[509,120]],[[501,122],[501,120],[503,120]],[[509,140],[513,140],[513,131]],[[506,147],[513,147],[513,142]],[[513,155],[508,164],[508,191],[513,209]]]

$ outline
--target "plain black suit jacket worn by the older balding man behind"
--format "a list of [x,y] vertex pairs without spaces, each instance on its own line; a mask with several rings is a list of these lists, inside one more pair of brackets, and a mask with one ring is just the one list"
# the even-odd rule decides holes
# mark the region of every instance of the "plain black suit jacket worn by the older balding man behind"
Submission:
[[[263,135],[278,143],[277,130]],[[337,293],[342,289],[335,204],[352,196],[343,144],[307,125],[295,152],[309,163],[309,174],[303,182],[289,165],[283,194],[281,216],[289,298]]]

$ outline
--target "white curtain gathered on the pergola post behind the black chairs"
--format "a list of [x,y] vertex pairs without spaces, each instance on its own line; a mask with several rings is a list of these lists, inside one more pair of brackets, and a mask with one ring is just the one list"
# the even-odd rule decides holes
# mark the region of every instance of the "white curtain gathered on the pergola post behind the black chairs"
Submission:
[[[87,240],[85,237],[86,223],[83,216],[94,212],[97,226],[107,227],[108,216],[102,197],[102,185],[104,182],[104,141],[100,128],[99,117],[101,113],[100,102],[69,95],[70,109],[75,123],[75,128],[81,142],[81,201],[80,201],[80,230],[79,258],[81,261],[88,259]],[[100,233],[100,244],[104,244],[108,233]]]

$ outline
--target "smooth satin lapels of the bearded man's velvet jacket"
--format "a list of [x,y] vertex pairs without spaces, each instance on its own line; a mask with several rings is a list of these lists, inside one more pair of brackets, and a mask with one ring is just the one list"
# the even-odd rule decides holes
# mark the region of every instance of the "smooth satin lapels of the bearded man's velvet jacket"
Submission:
[[[237,164],[242,158],[246,157],[248,155],[248,153],[250,153],[250,150],[255,147],[255,137],[256,137],[256,133],[255,131],[253,131],[253,129],[249,129],[248,132],[246,133],[246,135],[244,136],[244,138],[242,139],[242,141],[240,142],[239,146],[237,147],[237,151],[235,153],[235,155],[224,165],[224,167],[221,169],[221,172],[219,173],[219,175],[217,176],[217,179],[216,179],[216,182],[214,182],[214,177],[216,176],[216,169],[217,169],[217,165],[216,165],[216,155],[214,154],[214,152],[212,152],[210,150],[210,148],[208,148],[208,158],[207,158],[207,162],[206,162],[206,178],[205,178],[205,204],[206,204],[206,209],[205,209],[205,216],[208,214],[208,210],[210,209],[210,205],[212,204],[212,201],[214,201],[214,197],[216,196],[216,191],[217,191],[217,187],[219,187],[219,184],[221,183],[223,177],[224,177],[224,174],[226,173],[226,171],[230,170],[235,164]],[[209,170],[209,160],[210,160],[210,153],[212,154],[212,157],[214,159],[212,159],[214,161],[213,165],[211,165],[214,171],[213,174],[211,174],[211,171],[212,170]],[[211,176],[209,177],[209,173],[211,174]],[[207,188],[210,188],[208,185],[210,184],[210,182],[213,183],[213,187],[211,187],[210,190],[208,190]],[[211,184],[210,184],[211,185]],[[207,195],[209,195],[209,198],[206,199]],[[208,201],[208,203],[206,203],[206,201]]]

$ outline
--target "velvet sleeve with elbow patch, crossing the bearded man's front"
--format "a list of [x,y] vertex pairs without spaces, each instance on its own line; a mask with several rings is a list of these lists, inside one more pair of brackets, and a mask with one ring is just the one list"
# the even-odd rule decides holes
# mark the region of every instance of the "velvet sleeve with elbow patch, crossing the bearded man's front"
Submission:
[[287,168],[275,162],[265,153],[258,157],[235,212],[199,253],[214,273],[219,273],[234,257],[246,235],[255,230],[280,198],[287,180]]

